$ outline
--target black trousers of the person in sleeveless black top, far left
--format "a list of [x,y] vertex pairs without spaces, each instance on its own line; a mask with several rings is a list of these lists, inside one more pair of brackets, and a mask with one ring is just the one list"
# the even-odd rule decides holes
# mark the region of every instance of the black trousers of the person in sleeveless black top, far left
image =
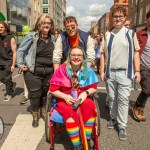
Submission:
[[5,84],[6,94],[12,95],[13,93],[13,82],[12,82],[12,72],[10,65],[0,65],[0,81]]

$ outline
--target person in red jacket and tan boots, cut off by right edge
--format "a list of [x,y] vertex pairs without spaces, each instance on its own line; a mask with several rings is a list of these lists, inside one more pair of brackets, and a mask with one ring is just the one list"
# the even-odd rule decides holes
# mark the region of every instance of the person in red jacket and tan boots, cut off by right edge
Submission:
[[146,14],[146,22],[147,27],[137,32],[141,54],[141,69],[137,71],[141,73],[142,91],[133,107],[133,115],[138,121],[146,121],[144,108],[150,96],[150,11]]

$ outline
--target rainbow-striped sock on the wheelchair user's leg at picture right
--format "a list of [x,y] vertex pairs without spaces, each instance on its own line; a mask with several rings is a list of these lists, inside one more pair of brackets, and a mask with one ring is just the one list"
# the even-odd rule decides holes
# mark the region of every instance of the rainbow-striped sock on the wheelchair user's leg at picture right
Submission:
[[92,133],[92,129],[93,129],[94,120],[95,120],[95,118],[92,117],[84,125],[87,140],[91,138],[91,133]]

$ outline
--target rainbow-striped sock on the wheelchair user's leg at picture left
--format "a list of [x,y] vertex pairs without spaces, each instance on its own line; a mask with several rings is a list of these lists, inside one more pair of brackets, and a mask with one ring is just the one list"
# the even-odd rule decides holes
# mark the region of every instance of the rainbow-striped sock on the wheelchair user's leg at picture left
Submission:
[[66,122],[66,130],[71,138],[74,147],[80,145],[79,127],[75,122]]

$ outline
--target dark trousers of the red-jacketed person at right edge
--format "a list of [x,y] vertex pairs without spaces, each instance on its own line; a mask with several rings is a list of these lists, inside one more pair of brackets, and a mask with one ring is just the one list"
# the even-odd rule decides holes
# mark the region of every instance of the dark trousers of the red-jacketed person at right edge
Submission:
[[145,104],[150,96],[150,70],[146,69],[144,66],[141,67],[141,88],[142,91],[136,100],[136,106],[145,107]]

